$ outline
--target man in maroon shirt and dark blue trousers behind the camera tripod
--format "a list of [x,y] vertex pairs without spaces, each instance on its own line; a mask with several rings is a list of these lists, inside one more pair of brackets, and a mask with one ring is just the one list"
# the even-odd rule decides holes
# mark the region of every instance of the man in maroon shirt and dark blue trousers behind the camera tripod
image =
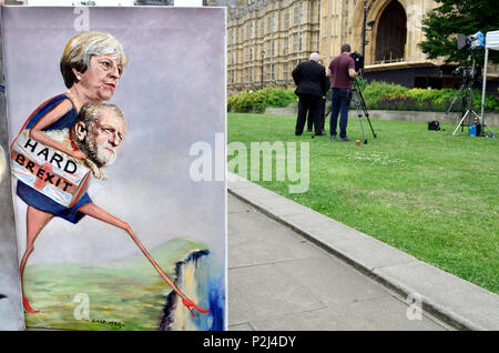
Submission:
[[350,46],[343,44],[342,53],[333,59],[326,75],[333,78],[333,98],[330,109],[329,133],[333,140],[337,139],[336,127],[339,118],[339,141],[350,141],[346,135],[348,122],[348,108],[352,100],[352,79],[356,78],[355,61],[350,58]]

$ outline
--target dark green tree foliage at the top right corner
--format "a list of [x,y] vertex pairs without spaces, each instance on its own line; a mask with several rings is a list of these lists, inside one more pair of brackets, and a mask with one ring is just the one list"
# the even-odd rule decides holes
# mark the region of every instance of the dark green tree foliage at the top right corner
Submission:
[[[418,46],[429,59],[465,63],[470,54],[458,50],[457,33],[465,36],[499,30],[497,0],[435,0],[437,8],[422,19],[426,40]],[[475,50],[477,64],[483,65],[485,48]],[[489,51],[489,62],[499,63],[499,51]]]

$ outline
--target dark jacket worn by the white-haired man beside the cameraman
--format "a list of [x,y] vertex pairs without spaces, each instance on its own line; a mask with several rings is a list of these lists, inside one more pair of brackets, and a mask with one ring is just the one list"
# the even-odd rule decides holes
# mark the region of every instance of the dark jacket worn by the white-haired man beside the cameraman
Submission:
[[297,95],[323,97],[329,89],[330,83],[329,79],[326,78],[326,69],[313,60],[298,63],[292,74],[297,85],[295,90]]

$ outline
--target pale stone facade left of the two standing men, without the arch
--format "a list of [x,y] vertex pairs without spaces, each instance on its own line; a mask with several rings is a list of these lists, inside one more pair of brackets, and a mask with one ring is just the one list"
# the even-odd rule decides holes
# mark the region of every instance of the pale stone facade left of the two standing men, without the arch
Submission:
[[230,93],[294,87],[293,69],[319,50],[319,0],[214,0],[204,4],[227,7]]

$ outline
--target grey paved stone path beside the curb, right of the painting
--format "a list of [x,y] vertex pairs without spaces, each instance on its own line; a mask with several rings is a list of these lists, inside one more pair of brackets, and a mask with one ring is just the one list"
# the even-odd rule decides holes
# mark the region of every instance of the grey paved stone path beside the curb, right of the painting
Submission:
[[[409,312],[409,315],[407,313]],[[228,330],[448,330],[405,299],[228,195]]]

